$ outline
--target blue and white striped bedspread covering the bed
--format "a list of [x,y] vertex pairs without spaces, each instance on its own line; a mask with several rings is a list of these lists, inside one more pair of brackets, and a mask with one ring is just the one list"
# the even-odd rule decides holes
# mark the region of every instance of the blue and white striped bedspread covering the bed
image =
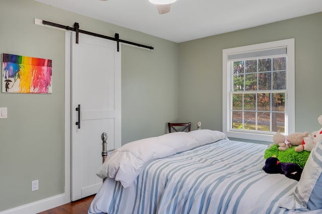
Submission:
[[222,139],[152,160],[127,188],[106,179],[89,213],[289,213],[277,204],[297,181],[262,170],[266,148]]

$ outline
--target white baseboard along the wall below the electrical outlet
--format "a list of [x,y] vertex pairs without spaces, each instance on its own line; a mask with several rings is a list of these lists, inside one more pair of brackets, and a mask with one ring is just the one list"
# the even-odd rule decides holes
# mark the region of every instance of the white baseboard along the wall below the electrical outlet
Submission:
[[1,211],[0,214],[36,214],[68,202],[70,201],[66,201],[65,193],[63,193],[22,206],[17,206],[12,209],[7,209],[5,211]]

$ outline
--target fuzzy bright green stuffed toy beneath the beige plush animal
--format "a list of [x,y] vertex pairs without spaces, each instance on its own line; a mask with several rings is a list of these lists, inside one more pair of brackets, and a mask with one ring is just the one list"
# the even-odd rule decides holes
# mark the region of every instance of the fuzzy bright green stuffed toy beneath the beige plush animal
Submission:
[[295,163],[303,168],[309,154],[310,152],[305,150],[302,152],[296,152],[295,147],[291,147],[285,151],[280,151],[278,149],[278,145],[273,144],[270,145],[267,150],[265,150],[264,159],[276,157],[280,162]]

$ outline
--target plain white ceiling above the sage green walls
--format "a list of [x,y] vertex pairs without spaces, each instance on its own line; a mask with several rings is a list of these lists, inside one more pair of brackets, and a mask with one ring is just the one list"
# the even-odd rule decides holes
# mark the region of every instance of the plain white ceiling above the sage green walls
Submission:
[[148,0],[35,1],[174,42],[322,11],[322,0],[177,0],[164,15]]

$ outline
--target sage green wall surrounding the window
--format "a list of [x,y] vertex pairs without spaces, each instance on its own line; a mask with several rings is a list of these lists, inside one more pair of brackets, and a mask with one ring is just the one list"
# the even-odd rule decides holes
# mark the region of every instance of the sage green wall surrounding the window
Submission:
[[222,49],[295,38],[295,131],[320,128],[322,13],[179,44],[179,119],[222,130]]

